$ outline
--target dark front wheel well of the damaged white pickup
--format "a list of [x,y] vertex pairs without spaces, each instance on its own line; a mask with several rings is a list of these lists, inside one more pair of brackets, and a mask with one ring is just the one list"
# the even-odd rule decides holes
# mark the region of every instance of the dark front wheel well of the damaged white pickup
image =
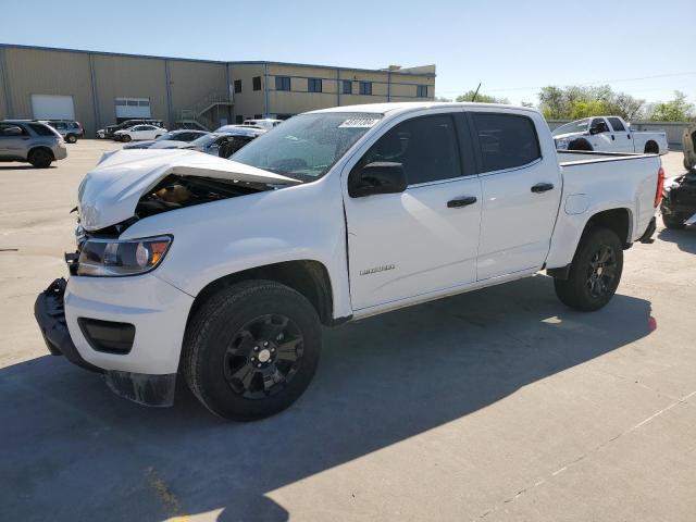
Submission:
[[301,260],[266,264],[226,275],[206,285],[198,293],[188,314],[189,320],[198,308],[213,294],[241,281],[275,281],[304,296],[312,303],[323,324],[333,320],[333,293],[328,271],[319,261]]

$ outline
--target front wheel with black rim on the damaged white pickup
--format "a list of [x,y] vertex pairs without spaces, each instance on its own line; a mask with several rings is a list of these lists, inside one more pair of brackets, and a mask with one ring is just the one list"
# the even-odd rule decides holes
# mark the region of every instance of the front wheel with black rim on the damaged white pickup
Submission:
[[221,290],[198,309],[186,330],[182,368],[211,412],[251,421],[302,395],[321,346],[319,316],[304,296],[254,279]]

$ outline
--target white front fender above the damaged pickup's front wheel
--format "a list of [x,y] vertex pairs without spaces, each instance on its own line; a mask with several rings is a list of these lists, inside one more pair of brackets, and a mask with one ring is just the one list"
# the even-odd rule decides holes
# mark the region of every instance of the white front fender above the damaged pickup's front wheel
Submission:
[[334,183],[323,178],[157,214],[135,223],[122,237],[171,234],[170,251],[153,275],[192,297],[237,272],[318,261],[332,282],[334,318],[350,315],[346,224]]

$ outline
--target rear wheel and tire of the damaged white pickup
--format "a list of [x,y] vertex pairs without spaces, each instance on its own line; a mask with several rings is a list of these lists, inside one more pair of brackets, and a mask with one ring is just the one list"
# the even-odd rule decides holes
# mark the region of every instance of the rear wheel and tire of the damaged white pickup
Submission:
[[591,312],[607,304],[623,270],[623,246],[613,231],[592,227],[583,234],[568,279],[554,279],[563,304]]

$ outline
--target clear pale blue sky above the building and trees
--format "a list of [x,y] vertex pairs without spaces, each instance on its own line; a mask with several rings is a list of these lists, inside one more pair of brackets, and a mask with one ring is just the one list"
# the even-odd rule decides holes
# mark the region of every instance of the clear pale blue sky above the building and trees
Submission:
[[[37,15],[37,13],[44,13]],[[208,60],[436,64],[436,95],[602,85],[696,103],[696,0],[0,0],[0,42]]]

